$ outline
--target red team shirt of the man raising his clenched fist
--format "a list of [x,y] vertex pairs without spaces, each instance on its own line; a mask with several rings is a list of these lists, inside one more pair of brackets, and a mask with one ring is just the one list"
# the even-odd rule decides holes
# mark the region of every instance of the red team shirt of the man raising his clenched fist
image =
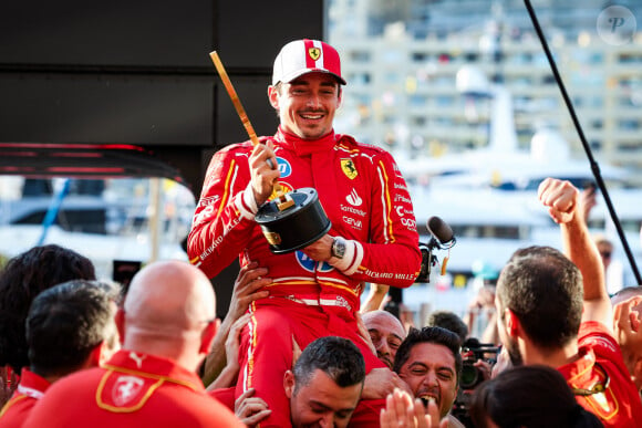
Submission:
[[[604,383],[605,393],[589,396],[576,395],[578,403],[600,418],[604,427],[635,427],[642,420],[642,404],[631,375],[624,365],[622,352],[604,325],[586,322],[579,332],[580,358],[558,369],[571,388],[591,389]],[[599,366],[596,365],[599,364]]]

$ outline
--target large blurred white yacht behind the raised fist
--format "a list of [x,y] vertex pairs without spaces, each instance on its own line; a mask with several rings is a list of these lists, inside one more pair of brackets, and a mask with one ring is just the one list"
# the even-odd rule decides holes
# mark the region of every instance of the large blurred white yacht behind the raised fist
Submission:
[[[547,177],[568,179],[578,188],[596,181],[588,159],[572,158],[568,143],[551,127],[543,126],[532,136],[529,150],[519,149],[510,96],[500,87],[495,87],[494,93],[496,100],[487,148],[432,158],[397,159],[408,182],[421,242],[429,240],[426,221],[432,216],[449,225],[457,240],[448,251],[434,251],[442,264],[448,258],[446,275],[439,275],[439,267],[435,267],[427,285],[416,284],[404,290],[404,302],[415,312],[422,304],[435,304],[435,300],[439,300],[435,307],[460,314],[470,293],[476,292],[469,286],[475,283],[473,278],[496,276],[515,250],[531,244],[561,249],[559,227],[537,199],[539,184]],[[642,190],[627,188],[629,173],[624,169],[601,163],[600,170],[640,264]],[[612,265],[619,265],[620,271],[609,272],[614,273],[610,281],[635,284],[600,196],[591,212],[590,227],[596,233],[605,232],[614,243],[615,263]]]

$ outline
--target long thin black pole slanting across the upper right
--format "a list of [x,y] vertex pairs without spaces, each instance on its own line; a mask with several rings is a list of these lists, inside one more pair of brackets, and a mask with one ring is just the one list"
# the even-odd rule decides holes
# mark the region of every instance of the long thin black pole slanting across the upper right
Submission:
[[631,264],[631,269],[633,270],[633,274],[635,275],[635,281],[638,281],[638,285],[642,285],[642,278],[640,276],[640,271],[638,270],[638,265],[635,264],[635,259],[633,258],[633,253],[631,252],[631,248],[629,247],[629,242],[627,241],[627,237],[624,236],[624,231],[622,230],[622,226],[620,223],[620,220],[618,219],[618,215],[615,213],[615,209],[613,208],[613,203],[611,202],[611,197],[609,196],[609,192],[607,191],[607,185],[604,184],[604,180],[602,179],[600,166],[598,165],[598,163],[593,158],[591,146],[587,142],[587,137],[584,136],[584,133],[582,131],[582,126],[580,125],[580,121],[578,119],[578,116],[577,116],[576,111],[573,108],[573,104],[572,104],[572,102],[567,93],[567,90],[566,90],[565,84],[562,82],[561,75],[559,74],[557,65],[556,65],[555,60],[552,58],[552,54],[550,53],[550,50],[548,48],[548,43],[546,41],[546,38],[543,36],[543,32],[541,31],[541,27],[539,25],[539,21],[537,19],[537,15],[535,14],[535,10],[532,9],[532,6],[530,4],[530,0],[524,0],[524,2],[526,3],[526,9],[528,10],[528,14],[530,15],[530,20],[532,21],[532,25],[535,27],[535,31],[537,32],[537,35],[538,35],[539,41],[541,43],[541,46],[543,48],[543,51],[546,53],[546,58],[548,59],[548,63],[550,64],[550,69],[552,71],[552,74],[555,76],[557,85],[561,92],[561,95],[565,100],[567,108],[569,109],[569,113],[570,113],[571,118],[573,121],[573,125],[576,126],[576,129],[578,132],[580,140],[582,142],[582,146],[584,147],[584,152],[587,153],[587,157],[589,158],[589,163],[591,165],[591,171],[593,173],[593,176],[596,177],[596,184],[598,185],[598,188],[601,190],[602,196],[604,197],[604,202],[607,203],[607,208],[609,209],[609,213],[611,215],[611,219],[613,220],[615,229],[618,230],[618,236],[620,237],[620,240],[622,241],[622,247],[624,249],[624,252],[627,253],[627,258],[629,259],[629,263]]

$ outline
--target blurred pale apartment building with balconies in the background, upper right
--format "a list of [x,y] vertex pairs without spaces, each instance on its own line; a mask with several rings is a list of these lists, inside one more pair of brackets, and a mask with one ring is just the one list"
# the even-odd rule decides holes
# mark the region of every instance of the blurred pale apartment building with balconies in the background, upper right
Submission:
[[[635,27],[622,43],[600,33],[607,6],[625,8],[627,23],[640,27],[642,9],[598,0],[532,3],[593,154],[642,170],[642,33]],[[574,156],[584,156],[521,0],[330,0],[327,7],[327,36],[349,82],[338,132],[414,156],[483,147],[490,102],[455,85],[462,66],[476,65],[512,94],[520,146],[540,125],[555,126]],[[642,174],[635,180],[642,185]]]

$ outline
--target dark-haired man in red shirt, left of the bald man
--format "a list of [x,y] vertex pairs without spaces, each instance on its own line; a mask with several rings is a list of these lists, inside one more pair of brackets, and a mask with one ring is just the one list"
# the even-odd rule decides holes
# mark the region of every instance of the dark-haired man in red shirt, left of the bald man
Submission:
[[108,284],[75,280],[35,296],[25,322],[30,366],[0,411],[0,427],[21,427],[51,384],[99,366],[120,348],[117,295]]

